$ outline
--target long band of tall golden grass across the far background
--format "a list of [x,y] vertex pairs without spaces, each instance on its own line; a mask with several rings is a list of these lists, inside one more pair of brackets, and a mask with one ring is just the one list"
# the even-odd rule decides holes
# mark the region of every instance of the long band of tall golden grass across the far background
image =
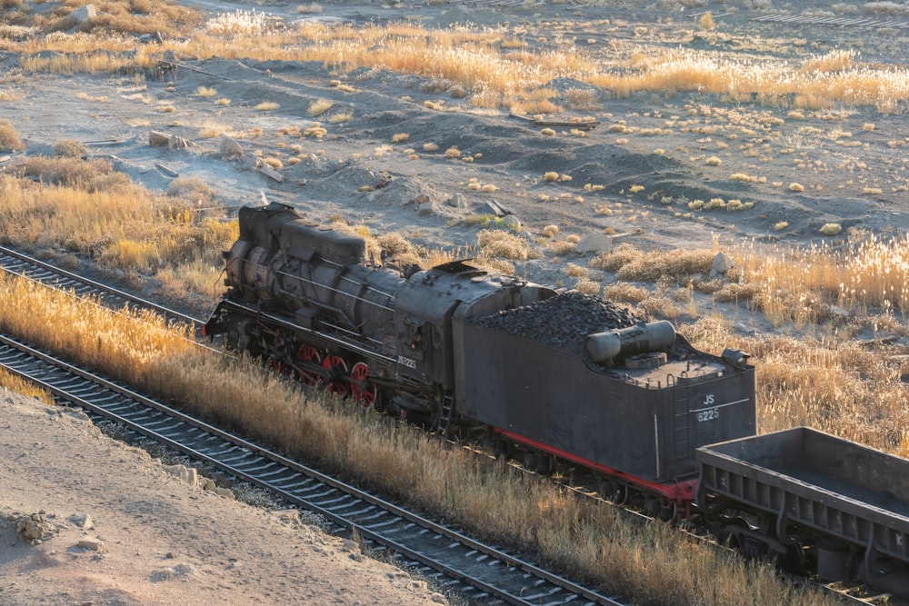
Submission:
[[[556,111],[554,92],[547,92],[545,84],[564,77],[618,96],[697,91],[726,94],[731,101],[756,98],[792,109],[845,104],[894,113],[909,100],[905,68],[863,64],[854,53],[839,50],[809,57],[802,65],[771,56],[744,61],[685,48],[630,56],[616,51],[614,56],[594,58],[573,45],[544,45],[535,51],[504,47],[502,41],[509,35],[505,26],[426,28],[412,23],[354,26],[314,21],[303,22],[294,31],[279,31],[260,23],[259,16],[221,15],[215,19],[225,23],[196,23],[185,37],[168,37],[161,45],[135,47],[131,35],[57,33],[25,41],[0,39],[0,50],[22,53],[26,72],[62,74],[155,68],[166,52],[199,60],[220,56],[319,61],[338,72],[376,67],[444,79],[470,91],[471,104],[498,105],[522,114]],[[195,23],[194,17],[181,18],[187,29]],[[117,25],[114,31],[143,30],[141,24],[132,30],[121,26],[128,27]]]

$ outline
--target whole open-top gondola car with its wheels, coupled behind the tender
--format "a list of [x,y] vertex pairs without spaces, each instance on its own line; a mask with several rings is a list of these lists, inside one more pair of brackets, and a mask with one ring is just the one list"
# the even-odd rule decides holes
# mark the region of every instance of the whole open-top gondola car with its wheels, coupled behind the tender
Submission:
[[811,553],[822,581],[909,598],[909,460],[798,427],[704,446],[697,461],[701,509],[722,513],[718,533],[740,549]]

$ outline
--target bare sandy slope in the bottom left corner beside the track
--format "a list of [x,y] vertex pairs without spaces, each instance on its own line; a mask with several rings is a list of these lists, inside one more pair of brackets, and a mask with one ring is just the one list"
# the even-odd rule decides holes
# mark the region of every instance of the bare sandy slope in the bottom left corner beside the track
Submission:
[[[82,412],[0,389],[0,433],[3,606],[447,603],[305,514],[190,485]],[[47,533],[26,541],[17,522],[39,512]]]

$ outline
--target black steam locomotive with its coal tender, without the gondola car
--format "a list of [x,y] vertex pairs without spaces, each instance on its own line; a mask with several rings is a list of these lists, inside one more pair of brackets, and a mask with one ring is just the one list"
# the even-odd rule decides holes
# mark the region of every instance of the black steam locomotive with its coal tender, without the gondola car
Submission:
[[540,472],[556,460],[605,492],[694,500],[698,446],[754,434],[754,367],[699,352],[671,323],[463,261],[365,259],[365,240],[282,204],[240,210],[224,299],[205,333],[280,373],[434,430],[492,440]]

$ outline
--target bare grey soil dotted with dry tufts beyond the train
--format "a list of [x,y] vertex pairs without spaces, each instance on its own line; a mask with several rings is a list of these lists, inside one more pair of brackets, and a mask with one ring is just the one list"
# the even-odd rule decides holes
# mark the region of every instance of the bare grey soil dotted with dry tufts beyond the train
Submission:
[[[864,48],[867,56],[860,58],[869,64],[901,65],[905,58],[898,36],[882,37],[871,27],[753,20],[767,10],[731,13],[713,7],[722,16],[714,31],[704,32],[697,15],[711,9],[710,4],[694,11],[617,2],[326,2],[313,15],[297,14],[294,3],[187,4],[220,11],[256,9],[282,25],[302,19],[360,24],[407,19],[433,27],[470,20],[504,28],[504,38],[517,32],[531,49],[574,40],[584,52],[602,55],[607,65],[635,50],[654,55],[674,46],[714,50],[716,56],[742,62],[780,54],[799,62],[837,48]],[[830,6],[813,4],[815,12],[824,9]],[[616,47],[624,50],[616,53]],[[470,217],[488,212],[485,204],[494,201],[521,221],[524,236],[540,256],[517,263],[515,272],[569,287],[574,279],[565,276],[564,263],[586,265],[593,253],[554,253],[548,246],[552,241],[541,235],[546,225],[560,228],[556,241],[640,230],[626,241],[644,248],[710,247],[714,242],[729,248],[746,242],[823,240],[818,230],[827,223],[841,224],[841,236],[850,228],[893,233],[909,220],[903,154],[909,124],[902,115],[880,114],[874,107],[792,114],[794,108],[730,104],[714,94],[640,93],[616,99],[598,89],[593,101],[577,107],[570,94],[591,87],[561,78],[546,84],[562,109],[545,118],[587,117],[599,125],[585,136],[572,134],[569,127],[556,127],[550,135],[507,110],[474,108],[469,95],[458,98],[454,83],[440,78],[377,68],[343,73],[317,62],[171,58],[188,69],[155,71],[139,82],[133,75],[30,75],[21,84],[25,97],[0,105],[0,116],[15,124],[27,154],[51,154],[52,145],[63,138],[112,140],[90,144],[92,153],[110,158],[116,169],[149,187],[165,189],[173,174],[198,177],[230,207],[260,204],[265,196],[293,204],[316,221],[340,215],[372,233],[402,233],[429,248],[475,246],[480,228],[469,224]],[[0,68],[14,69],[15,62],[14,55],[6,55]],[[340,90],[339,81],[354,92]],[[197,94],[200,86],[216,95]],[[230,104],[218,105],[215,99]],[[308,108],[320,99],[332,107],[311,118]],[[256,109],[263,102],[279,107]],[[430,109],[426,102],[441,104],[445,111]],[[174,111],[160,111],[166,106]],[[349,121],[330,123],[331,115],[345,112],[352,115]],[[287,134],[287,129],[305,131],[317,121],[327,131],[321,138]],[[151,147],[153,130],[193,145],[178,151]],[[245,169],[242,159],[223,157],[221,137],[210,137],[213,132],[234,136],[247,154],[281,160],[283,182]],[[409,139],[393,143],[395,134]],[[426,151],[427,144],[436,150]],[[301,145],[302,151],[292,145]],[[453,146],[461,159],[445,157]],[[291,164],[295,156],[300,161]],[[465,163],[467,156],[474,162]],[[15,160],[14,154],[7,164]],[[571,180],[547,182],[547,172]],[[733,179],[734,174],[754,181]],[[792,191],[791,184],[804,189]],[[495,191],[486,192],[483,185]],[[456,194],[459,201],[453,200]],[[432,212],[417,210],[414,201],[420,195],[434,203]],[[754,206],[744,212],[688,207],[691,201],[714,198]],[[664,204],[668,199],[672,203]]]

